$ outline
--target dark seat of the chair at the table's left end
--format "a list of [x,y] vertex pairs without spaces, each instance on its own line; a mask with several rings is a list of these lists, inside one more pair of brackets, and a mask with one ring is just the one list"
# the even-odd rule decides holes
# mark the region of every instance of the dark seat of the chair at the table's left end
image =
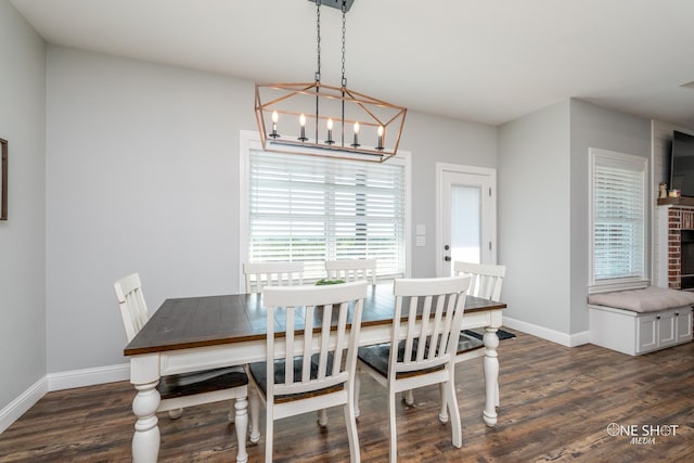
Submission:
[[162,399],[229,389],[248,384],[243,366],[228,366],[192,373],[162,376],[157,390]]

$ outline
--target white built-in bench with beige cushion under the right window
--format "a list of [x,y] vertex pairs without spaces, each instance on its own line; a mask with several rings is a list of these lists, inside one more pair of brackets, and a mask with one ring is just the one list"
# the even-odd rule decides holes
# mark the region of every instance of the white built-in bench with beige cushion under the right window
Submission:
[[648,286],[591,294],[590,342],[638,356],[692,340],[694,293]]

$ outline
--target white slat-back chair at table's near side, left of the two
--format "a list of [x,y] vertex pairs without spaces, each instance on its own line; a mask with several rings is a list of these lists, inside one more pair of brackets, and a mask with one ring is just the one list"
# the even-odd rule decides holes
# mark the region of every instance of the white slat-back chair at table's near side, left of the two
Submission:
[[[355,369],[367,283],[266,287],[267,360],[248,365],[250,393],[266,404],[265,461],[272,461],[274,421],[343,406],[350,461],[360,461]],[[278,320],[285,320],[277,335]]]

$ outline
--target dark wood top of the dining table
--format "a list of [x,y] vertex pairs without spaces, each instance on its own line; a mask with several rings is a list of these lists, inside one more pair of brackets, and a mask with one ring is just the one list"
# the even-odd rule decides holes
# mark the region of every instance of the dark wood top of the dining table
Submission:
[[[126,356],[190,349],[220,344],[264,340],[266,310],[259,294],[236,294],[166,299],[124,350]],[[370,286],[362,326],[389,324],[395,296],[393,284]],[[506,305],[467,296],[465,313],[503,309]],[[275,320],[280,326],[282,320]]]

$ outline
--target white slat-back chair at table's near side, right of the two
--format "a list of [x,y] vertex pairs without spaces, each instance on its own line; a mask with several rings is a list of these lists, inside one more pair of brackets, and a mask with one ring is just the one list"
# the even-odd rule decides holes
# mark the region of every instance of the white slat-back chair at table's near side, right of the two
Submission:
[[[453,357],[463,322],[470,276],[396,279],[396,297],[390,343],[358,349],[359,373],[368,373],[388,393],[389,459],[398,460],[396,394],[422,386],[442,384],[451,411],[453,447],[463,443]],[[359,400],[355,414],[359,416]]]

